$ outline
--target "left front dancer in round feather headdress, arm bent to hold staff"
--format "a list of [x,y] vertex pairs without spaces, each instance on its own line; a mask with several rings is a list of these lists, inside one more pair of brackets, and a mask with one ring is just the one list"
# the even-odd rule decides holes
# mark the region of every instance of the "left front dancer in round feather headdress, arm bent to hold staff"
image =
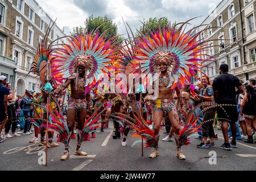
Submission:
[[[104,34],[98,32],[90,34],[77,34],[67,39],[67,44],[60,48],[53,61],[54,70],[67,80],[61,88],[54,93],[60,93],[71,85],[71,96],[68,101],[67,122],[70,137],[77,114],[77,147],[75,155],[87,155],[81,150],[81,134],[86,117],[86,94],[100,81],[100,73],[108,73],[112,68],[110,63],[114,60],[117,44],[112,40],[105,40]],[[96,86],[97,87],[97,86]],[[68,139],[69,141],[69,139]],[[69,158],[69,145],[65,144],[64,155],[61,160]]]

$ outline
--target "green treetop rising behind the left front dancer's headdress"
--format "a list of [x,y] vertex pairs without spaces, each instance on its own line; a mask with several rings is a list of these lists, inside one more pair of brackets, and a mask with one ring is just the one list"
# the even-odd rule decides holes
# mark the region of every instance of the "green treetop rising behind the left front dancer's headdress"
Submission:
[[[113,20],[109,18],[108,15],[105,15],[104,17],[102,16],[93,17],[93,15],[91,15],[88,18],[86,18],[84,23],[85,23],[85,28],[81,26],[73,28],[73,32],[71,32],[71,35],[74,36],[77,33],[84,32],[84,31],[88,34],[89,32],[92,32],[99,27],[97,31],[100,33],[100,35],[104,31],[106,31],[105,32],[106,39],[110,39],[110,38],[114,38],[115,36],[118,36],[117,24],[115,24]],[[118,36],[117,40],[122,40],[122,38]]]

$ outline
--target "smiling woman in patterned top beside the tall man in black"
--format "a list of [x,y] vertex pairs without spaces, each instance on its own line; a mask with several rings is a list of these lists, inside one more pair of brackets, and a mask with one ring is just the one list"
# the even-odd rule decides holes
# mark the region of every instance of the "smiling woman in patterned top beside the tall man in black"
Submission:
[[[200,102],[214,102],[214,93],[212,86],[210,86],[210,80],[207,76],[201,77],[201,82],[203,85],[203,88],[200,90],[200,94],[196,95],[196,97],[200,98]],[[209,107],[210,105],[204,105],[202,109],[205,109],[206,107]],[[215,109],[208,109],[204,112],[204,119],[203,122],[208,121],[210,119],[214,118],[215,115]],[[200,144],[197,145],[197,148],[209,148],[209,147],[215,147],[214,145],[214,130],[213,130],[213,122],[207,122],[202,125],[203,129],[203,140]],[[209,137],[209,142],[207,142],[207,138]]]

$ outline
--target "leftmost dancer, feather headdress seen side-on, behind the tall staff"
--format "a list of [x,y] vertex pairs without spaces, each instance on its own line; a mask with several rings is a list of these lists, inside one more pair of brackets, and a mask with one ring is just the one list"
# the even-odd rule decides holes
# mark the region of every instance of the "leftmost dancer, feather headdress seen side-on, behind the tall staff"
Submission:
[[[57,73],[52,73],[52,61],[55,59],[54,56],[52,56],[52,53],[55,51],[53,48],[53,44],[48,44],[48,35],[51,32],[51,28],[53,26],[50,25],[47,29],[46,35],[44,36],[44,39],[42,42],[39,42],[39,46],[36,49],[36,55],[34,57],[34,61],[31,65],[30,72],[34,73],[38,76],[38,80],[40,83],[40,89],[42,90],[42,96],[40,96],[38,100],[38,104],[34,105],[36,117],[38,119],[32,119],[32,123],[34,123],[34,127],[40,127],[40,134],[41,139],[39,142],[39,146],[46,145],[45,142],[45,135],[46,130],[48,126],[48,117],[47,112],[51,111],[51,113],[56,113],[57,107],[60,109],[59,103],[55,100],[55,98],[52,97],[52,101],[49,102],[48,109],[47,109],[47,100],[51,98],[51,90],[53,88],[56,88],[57,85],[60,84],[62,81],[62,78],[57,75]],[[29,74],[28,73],[28,74]],[[47,98],[48,97],[48,98]],[[57,106],[57,107],[56,107]],[[40,123],[42,121],[42,123]],[[36,130],[38,131],[38,130]],[[48,147],[57,147],[59,144],[52,141],[53,139],[53,133],[48,131]],[[30,142],[34,142],[35,139],[30,140]]]

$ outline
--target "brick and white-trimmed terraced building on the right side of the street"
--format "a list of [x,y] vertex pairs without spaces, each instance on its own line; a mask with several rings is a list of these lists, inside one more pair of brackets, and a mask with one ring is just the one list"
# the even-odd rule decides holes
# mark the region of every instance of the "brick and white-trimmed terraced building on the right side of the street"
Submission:
[[[200,39],[215,46],[205,51],[214,59],[201,69],[210,80],[218,74],[222,63],[228,64],[230,73],[243,82],[256,77],[255,8],[256,0],[223,0],[201,23],[207,25],[198,28],[197,32],[203,30]],[[217,46],[216,41],[210,41],[213,39],[226,40],[219,40]]]

